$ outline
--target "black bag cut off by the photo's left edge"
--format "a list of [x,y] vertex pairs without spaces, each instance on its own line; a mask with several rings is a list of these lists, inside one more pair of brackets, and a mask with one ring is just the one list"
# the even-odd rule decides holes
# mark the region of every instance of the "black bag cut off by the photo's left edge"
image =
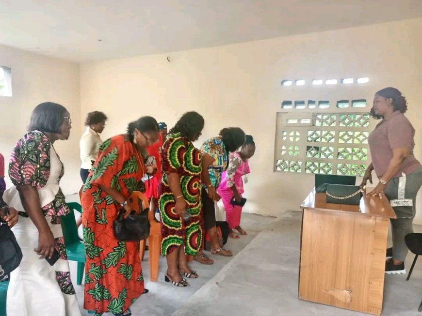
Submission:
[[9,279],[22,260],[22,251],[17,244],[15,234],[6,222],[0,220],[0,281]]

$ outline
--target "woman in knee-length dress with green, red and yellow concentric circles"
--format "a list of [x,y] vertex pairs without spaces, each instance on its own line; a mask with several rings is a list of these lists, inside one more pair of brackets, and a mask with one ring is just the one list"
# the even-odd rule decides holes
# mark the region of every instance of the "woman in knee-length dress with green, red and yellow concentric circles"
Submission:
[[[170,130],[163,145],[162,180],[159,184],[162,256],[167,258],[165,281],[189,286],[186,279],[197,278],[186,255],[195,256],[202,240],[201,152],[192,144],[201,135],[204,118],[187,112]],[[188,218],[189,217],[189,218]]]

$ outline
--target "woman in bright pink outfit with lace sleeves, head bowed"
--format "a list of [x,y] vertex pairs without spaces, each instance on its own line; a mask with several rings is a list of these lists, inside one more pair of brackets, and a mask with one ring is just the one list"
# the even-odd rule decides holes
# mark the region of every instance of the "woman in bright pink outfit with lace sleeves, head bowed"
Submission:
[[233,196],[236,202],[241,201],[244,192],[242,177],[244,176],[244,183],[247,183],[246,175],[250,173],[248,160],[254,153],[254,139],[251,135],[246,135],[241,150],[230,154],[227,170],[223,173],[221,184],[217,189],[226,209],[226,221],[230,228],[229,237],[233,239],[239,239],[239,236],[235,234],[233,229],[236,229],[242,235],[247,235],[240,226],[242,207],[232,205],[230,201]]

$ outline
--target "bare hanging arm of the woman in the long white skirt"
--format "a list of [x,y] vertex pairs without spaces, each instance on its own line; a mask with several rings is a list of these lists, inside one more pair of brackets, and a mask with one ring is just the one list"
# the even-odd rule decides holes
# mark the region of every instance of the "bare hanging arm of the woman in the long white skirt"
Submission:
[[54,236],[41,209],[40,196],[37,189],[30,184],[17,185],[22,206],[38,230],[38,248],[34,251],[40,259],[51,258],[54,253]]

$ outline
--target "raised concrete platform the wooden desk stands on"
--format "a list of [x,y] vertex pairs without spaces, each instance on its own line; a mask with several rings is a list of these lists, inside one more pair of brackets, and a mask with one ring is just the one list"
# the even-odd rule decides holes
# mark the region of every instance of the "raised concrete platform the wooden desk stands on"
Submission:
[[[275,220],[173,316],[365,315],[298,299],[301,216],[287,212]],[[412,259],[409,255],[407,269]],[[382,315],[422,315],[421,281],[421,263],[408,282],[403,274],[386,275]]]

